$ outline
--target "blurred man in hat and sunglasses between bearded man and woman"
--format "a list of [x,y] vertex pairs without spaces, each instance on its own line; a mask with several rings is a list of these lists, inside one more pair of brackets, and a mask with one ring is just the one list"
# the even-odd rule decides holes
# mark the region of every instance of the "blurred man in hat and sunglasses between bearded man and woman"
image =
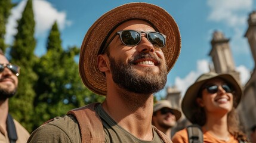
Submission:
[[160,100],[156,102],[153,108],[152,125],[171,138],[171,129],[180,117],[181,112],[172,107],[170,101]]

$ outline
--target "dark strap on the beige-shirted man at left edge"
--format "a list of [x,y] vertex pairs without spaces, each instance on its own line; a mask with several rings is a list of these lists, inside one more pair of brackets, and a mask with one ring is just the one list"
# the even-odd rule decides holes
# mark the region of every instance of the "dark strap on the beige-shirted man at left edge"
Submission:
[[8,138],[10,143],[16,142],[18,139],[18,136],[16,133],[14,122],[13,122],[13,117],[11,117],[9,113],[6,120],[6,125],[7,125],[7,132],[8,132]]

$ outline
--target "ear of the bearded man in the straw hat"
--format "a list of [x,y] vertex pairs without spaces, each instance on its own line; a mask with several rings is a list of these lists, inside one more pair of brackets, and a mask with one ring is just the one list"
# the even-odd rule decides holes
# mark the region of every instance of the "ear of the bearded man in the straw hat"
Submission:
[[98,69],[102,72],[109,70],[109,58],[106,54],[100,54],[97,57]]

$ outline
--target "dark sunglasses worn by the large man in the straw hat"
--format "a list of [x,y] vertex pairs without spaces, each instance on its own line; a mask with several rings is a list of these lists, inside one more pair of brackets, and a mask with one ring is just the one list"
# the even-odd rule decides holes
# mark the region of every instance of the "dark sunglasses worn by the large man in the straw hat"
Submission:
[[119,35],[119,38],[121,39],[122,43],[127,46],[135,46],[138,45],[141,41],[141,33],[146,33],[146,37],[149,40],[150,43],[152,43],[153,46],[156,46],[157,48],[163,48],[165,46],[166,42],[166,36],[159,32],[138,32],[135,30],[121,30],[119,32],[116,32],[115,35],[112,36],[112,38],[107,42],[107,44],[104,46],[101,54],[103,54],[109,46],[109,44],[113,41],[116,35]]

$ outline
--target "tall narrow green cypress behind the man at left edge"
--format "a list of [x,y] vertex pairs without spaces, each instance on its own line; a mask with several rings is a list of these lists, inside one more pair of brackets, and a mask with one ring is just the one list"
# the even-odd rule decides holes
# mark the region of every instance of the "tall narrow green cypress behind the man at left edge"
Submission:
[[22,17],[18,20],[18,32],[14,37],[14,43],[10,51],[10,62],[21,67],[20,76],[18,76],[17,94],[10,99],[10,113],[29,132],[33,128],[33,99],[35,98],[33,86],[38,78],[33,71],[33,66],[37,60],[34,55],[36,46],[36,41],[33,37],[34,27],[32,0],[28,0]]

